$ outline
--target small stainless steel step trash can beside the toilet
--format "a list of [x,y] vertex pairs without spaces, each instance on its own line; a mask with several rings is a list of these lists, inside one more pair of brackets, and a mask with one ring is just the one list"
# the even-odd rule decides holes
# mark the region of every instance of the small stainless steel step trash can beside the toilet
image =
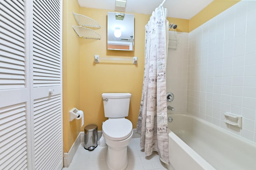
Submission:
[[98,126],[87,125],[84,127],[84,148],[87,150],[94,150],[98,146],[97,136]]

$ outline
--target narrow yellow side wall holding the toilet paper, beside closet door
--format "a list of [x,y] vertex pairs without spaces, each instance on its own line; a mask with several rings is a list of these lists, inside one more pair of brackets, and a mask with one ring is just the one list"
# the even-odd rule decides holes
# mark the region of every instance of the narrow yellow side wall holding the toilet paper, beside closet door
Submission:
[[72,12],[79,12],[77,1],[63,0],[63,144],[68,152],[80,132],[80,122],[69,122],[69,111],[80,106],[80,44],[72,26]]

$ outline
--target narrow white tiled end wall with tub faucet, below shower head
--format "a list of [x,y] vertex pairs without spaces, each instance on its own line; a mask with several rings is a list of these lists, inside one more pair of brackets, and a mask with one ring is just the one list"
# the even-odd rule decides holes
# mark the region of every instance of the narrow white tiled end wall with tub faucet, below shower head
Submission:
[[[176,47],[176,41],[178,43]],[[175,111],[168,113],[186,113],[187,84],[188,84],[188,33],[169,32],[169,49],[166,67],[166,90],[174,94],[174,101],[167,105],[174,107]],[[174,49],[176,48],[176,49]]]

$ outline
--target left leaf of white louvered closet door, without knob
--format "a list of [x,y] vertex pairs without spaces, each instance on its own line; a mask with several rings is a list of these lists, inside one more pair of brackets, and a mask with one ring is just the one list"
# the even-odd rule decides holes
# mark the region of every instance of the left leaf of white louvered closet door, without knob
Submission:
[[[0,169],[31,169],[26,5],[0,0]],[[28,75],[28,76],[27,76]]]

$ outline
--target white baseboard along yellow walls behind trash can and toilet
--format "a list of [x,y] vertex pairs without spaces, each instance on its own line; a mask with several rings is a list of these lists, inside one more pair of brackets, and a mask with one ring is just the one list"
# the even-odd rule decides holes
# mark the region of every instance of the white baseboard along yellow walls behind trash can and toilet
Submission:
[[[102,131],[99,130],[97,132],[97,139],[99,140],[101,135],[102,135]],[[132,138],[140,138],[140,134],[136,133],[136,129],[133,129],[133,136]],[[74,144],[72,145],[72,147],[70,148],[69,152],[65,152],[64,153],[64,167],[69,167],[70,163],[72,162],[72,159],[74,158],[74,155],[76,153],[76,150],[78,148],[78,146],[80,145],[80,143],[84,142],[84,132],[80,132],[74,142]]]

